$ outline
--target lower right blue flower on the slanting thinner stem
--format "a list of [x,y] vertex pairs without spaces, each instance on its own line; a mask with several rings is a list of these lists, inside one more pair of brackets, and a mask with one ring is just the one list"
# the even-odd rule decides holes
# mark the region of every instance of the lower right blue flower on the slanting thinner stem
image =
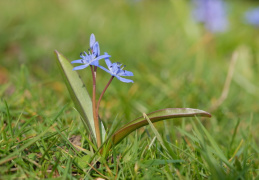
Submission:
[[[108,55],[108,54],[105,53],[105,55]],[[116,77],[117,79],[119,79],[122,82],[125,82],[125,83],[130,83],[131,82],[131,83],[133,83],[132,80],[125,79],[125,78],[121,77],[121,76],[133,76],[132,72],[123,70],[123,68],[125,66],[121,67],[122,64],[120,64],[118,62],[117,63],[111,63],[109,58],[105,58],[105,62],[106,62],[106,65],[107,65],[109,70],[104,68],[104,67],[102,67],[102,66],[99,66],[101,69],[103,69],[107,73],[111,74],[112,76]]]

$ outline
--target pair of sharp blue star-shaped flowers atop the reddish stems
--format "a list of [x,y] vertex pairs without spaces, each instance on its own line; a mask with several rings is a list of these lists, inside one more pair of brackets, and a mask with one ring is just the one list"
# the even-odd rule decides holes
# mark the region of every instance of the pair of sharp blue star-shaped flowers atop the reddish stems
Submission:
[[[71,63],[80,63],[83,65],[74,67],[73,70],[80,70],[84,69],[88,66],[95,66],[103,69],[104,71],[108,72],[112,76],[116,77],[122,82],[130,83],[133,81],[129,79],[122,78],[121,76],[133,76],[133,73],[130,71],[123,70],[123,67],[121,67],[122,64],[120,63],[111,63],[110,61],[110,55],[108,53],[105,53],[104,55],[100,55],[100,47],[99,43],[95,40],[94,34],[91,34],[90,36],[90,49],[88,54],[86,52],[83,52],[80,54],[81,59],[74,60]],[[105,62],[107,64],[108,69],[104,68],[103,66],[99,65],[99,60],[105,59]]]

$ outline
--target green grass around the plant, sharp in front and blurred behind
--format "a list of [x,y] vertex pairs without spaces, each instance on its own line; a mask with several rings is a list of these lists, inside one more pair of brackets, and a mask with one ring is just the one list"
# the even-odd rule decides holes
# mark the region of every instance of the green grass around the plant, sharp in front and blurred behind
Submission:
[[[255,5],[229,2],[229,31],[211,35],[192,22],[187,1],[1,1],[0,179],[258,178],[259,36],[242,20]],[[134,73],[134,84],[114,80],[103,98],[108,127],[168,107],[212,118],[141,128],[89,164],[88,136],[53,52],[78,59],[91,33],[102,53]],[[229,93],[212,110],[233,52]],[[90,86],[90,70],[80,75]],[[105,75],[98,74],[98,93]]]

